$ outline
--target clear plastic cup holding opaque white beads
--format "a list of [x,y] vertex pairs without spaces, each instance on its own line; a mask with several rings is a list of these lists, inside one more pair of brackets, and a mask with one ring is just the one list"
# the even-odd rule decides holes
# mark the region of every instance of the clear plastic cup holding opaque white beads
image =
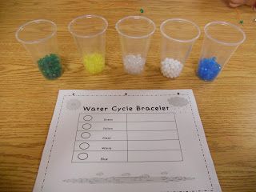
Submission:
[[189,20],[170,18],[162,22],[160,31],[161,72],[166,78],[177,78],[182,73],[194,42],[201,34],[200,29]]

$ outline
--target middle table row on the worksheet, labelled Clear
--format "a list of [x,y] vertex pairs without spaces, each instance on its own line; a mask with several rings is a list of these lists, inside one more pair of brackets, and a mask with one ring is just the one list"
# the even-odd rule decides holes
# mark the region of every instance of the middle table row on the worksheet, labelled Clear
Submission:
[[162,131],[77,131],[76,140],[97,140],[97,141],[114,141],[114,140],[166,140],[178,139],[177,130]]

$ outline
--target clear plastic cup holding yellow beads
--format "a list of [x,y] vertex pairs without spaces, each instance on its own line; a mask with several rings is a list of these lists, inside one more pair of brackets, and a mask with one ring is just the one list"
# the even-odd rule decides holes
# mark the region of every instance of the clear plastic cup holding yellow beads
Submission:
[[105,68],[107,26],[106,19],[98,15],[82,15],[68,26],[90,74],[98,74]]

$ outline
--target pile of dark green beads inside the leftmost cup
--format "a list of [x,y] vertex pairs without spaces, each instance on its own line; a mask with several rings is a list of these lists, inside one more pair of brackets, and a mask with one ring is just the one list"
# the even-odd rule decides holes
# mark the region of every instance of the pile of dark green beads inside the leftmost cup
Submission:
[[38,68],[42,75],[50,80],[62,76],[62,64],[57,54],[47,54],[38,60]]

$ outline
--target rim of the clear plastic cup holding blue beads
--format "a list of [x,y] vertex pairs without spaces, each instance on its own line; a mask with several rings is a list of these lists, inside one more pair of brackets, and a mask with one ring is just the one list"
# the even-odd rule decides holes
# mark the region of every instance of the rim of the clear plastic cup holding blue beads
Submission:
[[[214,24],[221,24],[221,25],[225,25],[225,26],[232,26],[234,28],[234,30],[238,30],[242,34],[242,37],[243,37],[242,40],[239,41],[239,42],[222,42],[222,41],[219,41],[216,38],[213,38],[212,36],[210,36],[210,34],[208,34],[207,28],[209,26],[214,25]],[[207,38],[210,38],[210,40],[212,40],[214,42],[217,42],[219,44],[225,45],[225,46],[238,46],[238,45],[242,44],[242,42],[244,42],[246,40],[245,32],[239,26],[236,26],[236,25],[234,25],[234,24],[232,24],[230,22],[223,22],[223,21],[209,22],[204,27],[204,31],[205,31],[205,34],[206,34]]]

